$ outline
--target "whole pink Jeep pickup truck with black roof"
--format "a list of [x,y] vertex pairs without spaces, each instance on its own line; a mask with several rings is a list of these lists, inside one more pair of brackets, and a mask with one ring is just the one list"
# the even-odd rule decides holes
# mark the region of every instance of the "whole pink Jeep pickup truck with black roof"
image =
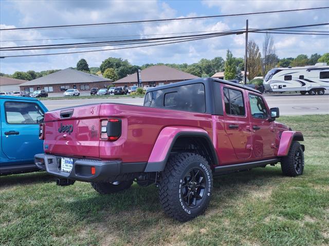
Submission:
[[208,207],[214,175],[281,162],[303,173],[300,132],[275,121],[262,94],[200,78],[147,90],[144,106],[90,104],[49,111],[35,164],[60,186],[91,182],[101,194],[156,183],[169,216],[187,221]]

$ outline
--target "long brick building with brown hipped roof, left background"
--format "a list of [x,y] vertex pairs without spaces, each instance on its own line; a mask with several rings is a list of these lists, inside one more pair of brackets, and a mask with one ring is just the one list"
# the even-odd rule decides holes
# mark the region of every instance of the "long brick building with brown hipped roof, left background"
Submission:
[[45,90],[51,92],[64,92],[67,89],[90,91],[91,88],[107,88],[112,84],[111,79],[78,71],[76,69],[63,69],[49,75],[27,81],[20,85],[21,91],[33,92]]

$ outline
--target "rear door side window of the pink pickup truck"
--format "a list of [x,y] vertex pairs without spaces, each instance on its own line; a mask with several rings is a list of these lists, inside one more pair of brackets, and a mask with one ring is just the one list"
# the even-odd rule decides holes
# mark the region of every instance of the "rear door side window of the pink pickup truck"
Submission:
[[245,116],[242,91],[224,87],[225,112],[229,115]]

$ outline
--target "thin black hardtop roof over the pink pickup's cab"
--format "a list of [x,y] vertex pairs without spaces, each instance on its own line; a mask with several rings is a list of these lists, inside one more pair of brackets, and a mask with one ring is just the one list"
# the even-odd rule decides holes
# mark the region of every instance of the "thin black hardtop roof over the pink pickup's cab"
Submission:
[[240,84],[235,84],[231,81],[227,81],[227,80],[224,80],[224,79],[211,78],[211,77],[209,77],[209,78],[190,79],[190,80],[176,82],[176,83],[172,83],[172,84],[168,84],[168,85],[164,85],[164,86],[159,86],[159,87],[149,87],[147,92],[158,91],[158,90],[173,88],[173,87],[177,87],[177,86],[186,86],[186,85],[197,84],[197,83],[206,84],[206,83],[214,83],[214,82],[223,83],[223,84],[226,84],[226,85],[230,85],[230,86],[234,86],[234,87],[237,87],[237,88],[241,88],[241,89],[245,89],[245,90],[249,90],[249,91],[252,91],[252,92],[255,92],[255,93],[262,94],[260,91],[252,89],[250,87],[243,86],[243,85],[240,85]]

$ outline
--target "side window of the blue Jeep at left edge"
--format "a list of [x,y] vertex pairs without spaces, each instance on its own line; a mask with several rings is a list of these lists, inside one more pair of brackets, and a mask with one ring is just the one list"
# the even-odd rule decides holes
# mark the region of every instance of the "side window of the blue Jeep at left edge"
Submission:
[[5,112],[8,124],[39,124],[44,116],[38,105],[14,101],[5,103]]

